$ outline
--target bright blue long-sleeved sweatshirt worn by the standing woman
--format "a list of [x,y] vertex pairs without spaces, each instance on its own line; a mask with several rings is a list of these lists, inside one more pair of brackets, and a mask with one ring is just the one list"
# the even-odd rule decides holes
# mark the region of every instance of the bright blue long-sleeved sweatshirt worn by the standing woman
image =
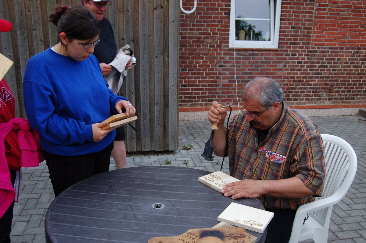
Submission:
[[91,125],[111,111],[117,114],[116,103],[127,100],[108,88],[94,55],[76,61],[51,48],[29,59],[23,89],[27,118],[43,149],[62,156],[86,155],[111,144],[115,131],[93,142]]

